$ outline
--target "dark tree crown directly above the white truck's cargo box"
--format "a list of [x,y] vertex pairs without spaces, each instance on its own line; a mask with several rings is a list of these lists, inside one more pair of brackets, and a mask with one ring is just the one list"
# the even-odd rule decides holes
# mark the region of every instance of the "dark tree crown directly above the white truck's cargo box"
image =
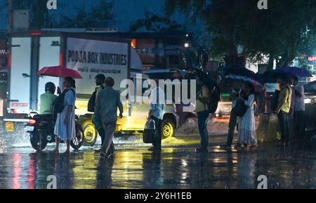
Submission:
[[115,21],[112,8],[113,2],[105,0],[99,0],[88,9],[85,4],[81,4],[81,6],[77,6],[74,17],[62,15],[58,27],[108,27]]

